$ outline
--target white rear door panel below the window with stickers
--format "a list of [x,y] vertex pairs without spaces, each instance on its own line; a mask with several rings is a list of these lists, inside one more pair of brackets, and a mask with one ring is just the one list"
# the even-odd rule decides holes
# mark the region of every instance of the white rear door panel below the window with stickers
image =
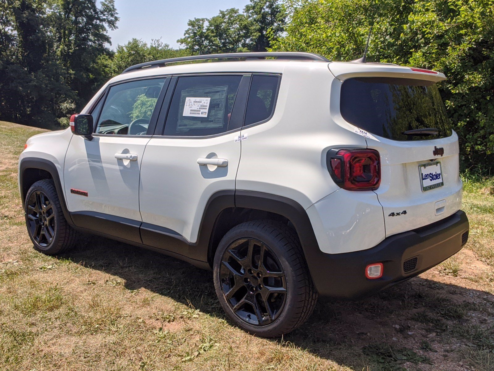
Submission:
[[[240,142],[235,142],[235,137],[238,133],[214,138],[151,139],[139,185],[143,223],[163,227],[195,243],[211,195],[235,189],[240,161]],[[199,158],[226,159],[228,165],[199,165]]]

